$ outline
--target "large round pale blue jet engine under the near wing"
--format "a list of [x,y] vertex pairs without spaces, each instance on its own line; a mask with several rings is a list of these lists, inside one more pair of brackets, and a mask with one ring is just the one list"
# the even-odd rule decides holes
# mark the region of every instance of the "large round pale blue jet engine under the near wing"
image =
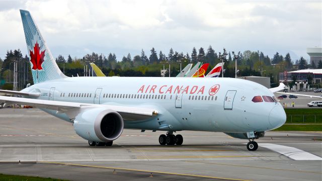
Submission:
[[119,113],[94,108],[79,113],[73,126],[76,134],[86,140],[110,142],[121,136],[124,123]]

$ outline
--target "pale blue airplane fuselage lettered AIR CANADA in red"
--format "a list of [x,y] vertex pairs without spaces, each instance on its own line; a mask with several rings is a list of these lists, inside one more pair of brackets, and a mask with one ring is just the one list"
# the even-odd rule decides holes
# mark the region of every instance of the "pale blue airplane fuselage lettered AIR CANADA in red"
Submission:
[[[23,92],[39,92],[41,100],[158,111],[146,120],[124,120],[128,129],[245,133],[285,123],[280,103],[252,102],[255,96],[273,97],[268,88],[236,78],[68,77],[38,83]],[[55,111],[47,112],[64,119]]]

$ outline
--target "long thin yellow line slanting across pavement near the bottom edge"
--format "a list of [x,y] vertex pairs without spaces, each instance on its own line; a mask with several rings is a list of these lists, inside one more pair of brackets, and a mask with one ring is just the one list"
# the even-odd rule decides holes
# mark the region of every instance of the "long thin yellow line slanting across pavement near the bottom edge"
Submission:
[[85,164],[63,163],[63,162],[52,162],[52,161],[40,161],[40,162],[42,162],[42,163],[50,163],[50,164],[64,164],[64,165],[71,165],[71,166],[93,167],[93,168],[118,169],[118,170],[126,170],[126,171],[140,171],[140,172],[162,173],[162,174],[171,174],[171,175],[195,176],[195,177],[203,177],[203,178],[216,178],[216,179],[226,179],[226,180],[251,181],[251,180],[247,180],[247,179],[225,178],[225,177],[198,175],[198,174],[173,173],[173,172],[166,172],[166,171],[152,171],[152,170],[119,168],[119,167],[109,167],[109,166],[96,166],[96,165],[85,165]]

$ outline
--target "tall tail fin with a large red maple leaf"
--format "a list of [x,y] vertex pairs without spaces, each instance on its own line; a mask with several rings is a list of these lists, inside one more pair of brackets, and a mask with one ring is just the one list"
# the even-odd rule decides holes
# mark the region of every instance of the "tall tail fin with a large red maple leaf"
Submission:
[[66,77],[58,68],[30,13],[20,10],[34,83]]

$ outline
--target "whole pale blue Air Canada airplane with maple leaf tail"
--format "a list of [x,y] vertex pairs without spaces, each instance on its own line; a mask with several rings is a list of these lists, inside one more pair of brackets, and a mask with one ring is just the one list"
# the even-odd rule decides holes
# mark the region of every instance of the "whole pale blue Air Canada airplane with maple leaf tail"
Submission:
[[[37,107],[70,122],[91,146],[111,146],[123,129],[164,131],[161,145],[181,145],[182,130],[224,132],[248,139],[282,126],[284,109],[265,86],[237,78],[67,77],[58,68],[34,19],[20,10],[34,85],[5,91],[4,107]],[[280,91],[284,87],[275,87]],[[202,142],[202,140],[200,140]],[[214,140],[214,142],[219,140]]]

